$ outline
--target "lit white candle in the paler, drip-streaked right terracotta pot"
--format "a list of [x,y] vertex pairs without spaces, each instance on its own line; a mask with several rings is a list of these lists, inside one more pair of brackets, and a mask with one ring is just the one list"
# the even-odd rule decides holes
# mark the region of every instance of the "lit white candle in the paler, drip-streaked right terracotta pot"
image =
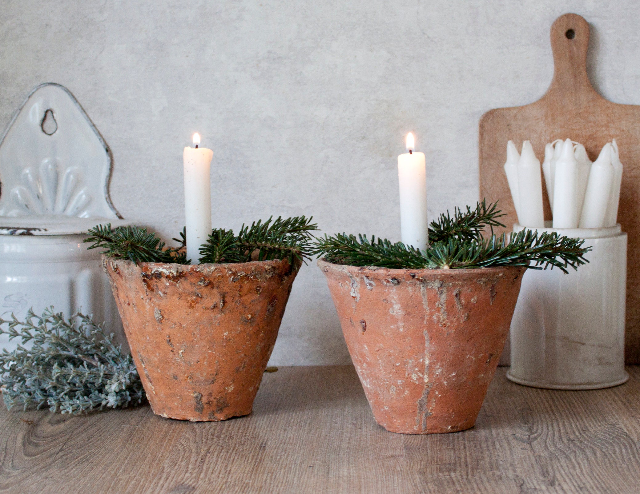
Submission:
[[413,134],[406,136],[408,153],[398,156],[400,184],[400,229],[402,241],[419,249],[429,242],[427,220],[427,171],[424,153],[413,152]]

